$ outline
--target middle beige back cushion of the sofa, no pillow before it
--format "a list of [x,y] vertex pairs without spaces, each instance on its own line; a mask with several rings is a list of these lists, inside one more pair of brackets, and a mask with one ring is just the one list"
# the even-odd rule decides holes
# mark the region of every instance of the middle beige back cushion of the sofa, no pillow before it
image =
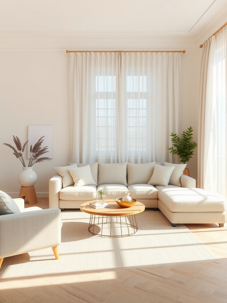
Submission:
[[98,164],[98,185],[123,184],[127,186],[126,175],[127,175],[127,162]]

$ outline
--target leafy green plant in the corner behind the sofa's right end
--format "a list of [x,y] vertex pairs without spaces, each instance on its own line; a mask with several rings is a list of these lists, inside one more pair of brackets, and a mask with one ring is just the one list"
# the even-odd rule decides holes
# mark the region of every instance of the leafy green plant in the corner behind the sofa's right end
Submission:
[[180,162],[184,164],[192,158],[193,151],[197,147],[197,143],[193,141],[193,129],[192,126],[188,127],[187,130],[182,132],[181,138],[174,133],[170,135],[172,137],[171,141],[173,143],[173,147],[167,148],[169,152],[173,155],[178,155],[180,158]]

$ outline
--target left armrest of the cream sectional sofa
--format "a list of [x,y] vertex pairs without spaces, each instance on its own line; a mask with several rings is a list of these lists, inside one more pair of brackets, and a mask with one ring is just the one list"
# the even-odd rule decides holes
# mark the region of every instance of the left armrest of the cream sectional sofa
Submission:
[[49,180],[49,208],[59,208],[59,191],[62,189],[62,177],[54,175]]

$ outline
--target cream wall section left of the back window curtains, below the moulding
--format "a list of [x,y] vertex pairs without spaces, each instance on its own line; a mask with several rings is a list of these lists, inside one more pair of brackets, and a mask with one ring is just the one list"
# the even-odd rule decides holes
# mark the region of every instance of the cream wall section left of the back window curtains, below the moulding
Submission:
[[[13,143],[13,135],[24,144],[28,125],[53,125],[53,159],[36,163],[37,196],[48,196],[48,180],[54,166],[69,161],[69,56],[59,50],[12,49],[0,51],[0,189],[18,197],[19,159],[3,143]],[[25,159],[27,149],[24,152]]]

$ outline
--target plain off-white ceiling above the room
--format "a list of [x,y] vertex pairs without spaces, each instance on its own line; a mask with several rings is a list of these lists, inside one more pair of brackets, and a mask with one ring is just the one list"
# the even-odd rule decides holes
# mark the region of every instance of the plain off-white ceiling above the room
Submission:
[[196,39],[225,12],[227,0],[1,0],[0,32]]

